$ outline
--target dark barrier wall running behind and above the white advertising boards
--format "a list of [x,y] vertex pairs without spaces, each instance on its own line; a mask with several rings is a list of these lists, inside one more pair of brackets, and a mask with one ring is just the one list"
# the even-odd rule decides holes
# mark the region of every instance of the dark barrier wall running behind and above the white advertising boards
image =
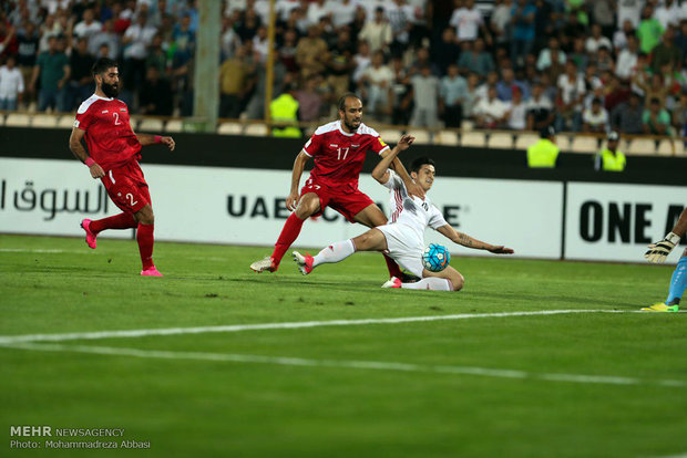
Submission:
[[[76,160],[69,149],[70,131],[38,128],[0,128],[0,156]],[[206,167],[290,169],[306,139],[248,137],[209,134],[174,134],[176,150],[147,146],[142,163]],[[393,143],[394,138],[386,138]],[[556,181],[636,183],[687,185],[687,159],[674,157],[629,156],[624,173],[594,170],[594,155],[563,153],[555,169],[530,169],[525,152],[516,149],[463,148],[459,146],[413,145],[401,155],[408,164],[418,156],[437,162],[443,176],[510,178]],[[368,155],[365,171],[377,158]],[[287,186],[287,184],[285,184]]]

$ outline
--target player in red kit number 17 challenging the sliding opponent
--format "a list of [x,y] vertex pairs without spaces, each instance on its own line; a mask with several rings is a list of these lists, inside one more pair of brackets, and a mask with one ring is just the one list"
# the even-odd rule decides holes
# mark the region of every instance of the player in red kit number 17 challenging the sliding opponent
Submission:
[[[402,136],[399,143],[412,143],[410,136]],[[271,256],[250,264],[256,272],[274,272],[279,268],[281,258],[300,233],[303,222],[321,215],[326,207],[331,207],[350,222],[360,222],[373,228],[387,223],[387,217],[372,199],[358,189],[358,178],[368,150],[381,157],[391,154],[391,149],[379,134],[362,124],[362,102],[355,94],[346,94],[339,100],[339,121],[319,126],[312,137],[296,157],[291,175],[291,190],[286,198],[286,207],[294,211],[275,244]],[[306,163],[315,159],[310,177],[298,194],[300,176]],[[424,191],[410,176],[400,160],[394,159],[393,168],[408,186],[411,195],[424,198]],[[398,264],[384,254],[389,274],[401,274]]]

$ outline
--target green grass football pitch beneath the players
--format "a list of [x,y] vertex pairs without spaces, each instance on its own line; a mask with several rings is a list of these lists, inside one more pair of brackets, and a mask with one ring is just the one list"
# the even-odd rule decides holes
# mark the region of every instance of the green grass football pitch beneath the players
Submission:
[[[665,298],[671,267],[454,257],[465,289],[445,293],[381,290],[376,253],[308,277],[290,259],[278,273],[253,273],[248,264],[268,251],[156,243],[166,275],[156,279],[137,275],[131,240],[99,240],[92,251],[80,239],[0,236],[0,455],[687,454],[687,315],[634,313]],[[557,310],[619,313],[81,337],[30,348],[3,341]],[[11,450],[18,425],[124,428],[124,439],[151,448]]]

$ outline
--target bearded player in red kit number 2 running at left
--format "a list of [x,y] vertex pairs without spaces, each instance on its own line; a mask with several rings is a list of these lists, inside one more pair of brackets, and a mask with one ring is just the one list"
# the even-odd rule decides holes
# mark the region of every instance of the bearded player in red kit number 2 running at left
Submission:
[[[155,217],[139,159],[141,146],[161,143],[173,150],[174,139],[134,134],[129,123],[126,104],[114,98],[120,92],[116,62],[99,59],[93,65],[93,77],[95,93],[76,112],[69,147],[79,160],[89,166],[91,176],[101,179],[110,199],[123,212],[96,221],[81,221],[86,243],[94,249],[98,233],[105,229],[137,228],[136,241],[143,263],[141,274],[162,277],[153,264]],[[83,138],[89,147],[88,153],[81,142]]]

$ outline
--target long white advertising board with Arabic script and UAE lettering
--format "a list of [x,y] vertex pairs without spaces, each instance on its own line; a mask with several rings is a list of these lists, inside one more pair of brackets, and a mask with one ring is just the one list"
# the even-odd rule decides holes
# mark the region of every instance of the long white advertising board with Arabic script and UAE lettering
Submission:
[[[142,165],[150,184],[157,240],[271,246],[289,211],[290,171]],[[441,173],[441,170],[439,170]],[[307,173],[304,174],[304,180]],[[388,210],[388,190],[369,175],[360,189]],[[563,185],[560,183],[437,178],[429,196],[458,230],[503,243],[519,256],[561,254]],[[79,221],[119,209],[78,162],[0,158],[0,232],[80,236]],[[296,246],[322,247],[367,230],[328,209],[304,225]],[[131,237],[131,231],[103,236]],[[441,235],[427,241],[459,249]]]

